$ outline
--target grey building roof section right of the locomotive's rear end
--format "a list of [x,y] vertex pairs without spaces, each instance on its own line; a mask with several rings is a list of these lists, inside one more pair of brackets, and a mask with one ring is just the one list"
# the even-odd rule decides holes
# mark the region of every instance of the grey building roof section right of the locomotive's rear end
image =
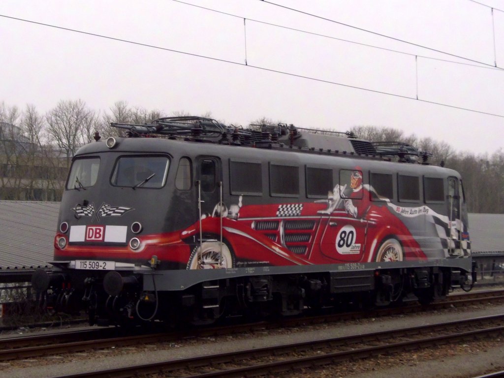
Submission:
[[503,252],[504,214],[469,214],[469,239],[475,252]]

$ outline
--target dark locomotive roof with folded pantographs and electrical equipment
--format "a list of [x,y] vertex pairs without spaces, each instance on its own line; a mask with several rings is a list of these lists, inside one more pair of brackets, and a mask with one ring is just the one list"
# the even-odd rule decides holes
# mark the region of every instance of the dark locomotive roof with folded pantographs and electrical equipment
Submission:
[[[124,152],[167,152],[166,140],[168,139],[171,140],[168,144],[175,141],[183,143],[182,146],[184,147],[180,147],[182,149],[191,150],[191,146],[197,145],[196,149],[198,151],[205,149],[208,151],[207,153],[214,151],[214,154],[217,152],[215,152],[215,147],[211,146],[218,146],[217,155],[229,157],[236,157],[237,155],[243,157],[259,156],[257,148],[260,148],[281,151],[282,153],[298,152],[313,156],[367,159],[379,162],[396,160],[427,165],[427,159],[431,156],[427,152],[418,151],[415,147],[404,143],[371,143],[357,139],[351,132],[302,129],[284,123],[251,125],[251,129],[243,129],[233,126],[228,127],[214,119],[191,116],[164,117],[149,124],[111,123],[111,126],[125,130],[127,138],[118,139],[120,143],[114,147],[114,149]],[[78,151],[77,155],[107,150],[103,142],[92,145],[94,147],[89,145],[83,147]],[[172,144],[172,146],[175,145],[177,143]],[[224,146],[248,147],[248,149],[240,149],[240,152],[236,153],[236,151],[231,152],[231,150],[222,149]],[[250,149],[250,147],[254,148]],[[250,150],[253,152],[250,152]],[[198,152],[196,153],[198,154]],[[282,159],[282,155],[268,156],[276,156]],[[286,156],[290,157],[285,157],[285,159],[293,158],[292,155]],[[305,160],[309,161],[311,158],[306,157]]]

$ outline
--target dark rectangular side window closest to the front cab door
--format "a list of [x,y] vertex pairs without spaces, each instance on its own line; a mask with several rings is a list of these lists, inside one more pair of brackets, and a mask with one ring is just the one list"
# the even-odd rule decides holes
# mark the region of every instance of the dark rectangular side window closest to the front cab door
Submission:
[[261,163],[230,160],[229,176],[231,194],[245,196],[263,195]]

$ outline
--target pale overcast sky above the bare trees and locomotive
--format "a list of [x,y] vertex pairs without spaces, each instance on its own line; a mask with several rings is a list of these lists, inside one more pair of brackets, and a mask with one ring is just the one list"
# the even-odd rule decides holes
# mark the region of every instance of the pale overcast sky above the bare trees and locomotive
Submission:
[[185,2],[227,14],[173,0],[2,0],[2,16],[144,45],[0,17],[0,102],[45,113],[82,99],[103,113],[123,100],[242,125],[390,127],[477,154],[504,145],[504,0],[271,0],[305,14]]

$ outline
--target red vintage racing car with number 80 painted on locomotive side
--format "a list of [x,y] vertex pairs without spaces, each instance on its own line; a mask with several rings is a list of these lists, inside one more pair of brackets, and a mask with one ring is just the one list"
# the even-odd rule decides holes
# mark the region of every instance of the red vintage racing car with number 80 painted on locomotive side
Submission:
[[[387,202],[353,199],[356,208],[365,206],[356,217],[345,209],[345,201],[349,200],[241,206],[231,218],[222,218],[222,259],[216,260],[221,256],[216,237],[202,244],[199,265],[195,257],[200,248],[195,249],[187,269],[426,260]],[[202,234],[220,235],[217,214],[202,219]],[[183,231],[181,238],[199,233],[200,222]]]

